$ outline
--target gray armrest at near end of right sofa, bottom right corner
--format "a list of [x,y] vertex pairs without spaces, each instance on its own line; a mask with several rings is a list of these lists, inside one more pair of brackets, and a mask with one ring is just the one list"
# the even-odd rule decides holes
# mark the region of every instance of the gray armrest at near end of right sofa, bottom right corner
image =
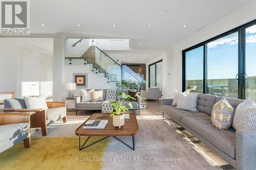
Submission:
[[256,167],[256,130],[236,131],[236,161],[240,170]]

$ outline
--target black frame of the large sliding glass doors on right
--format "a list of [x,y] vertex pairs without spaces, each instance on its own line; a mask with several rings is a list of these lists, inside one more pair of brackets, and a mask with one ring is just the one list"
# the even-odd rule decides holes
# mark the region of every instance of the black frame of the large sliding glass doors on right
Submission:
[[194,50],[195,48],[198,48],[200,46],[203,46],[203,48],[204,48],[204,52],[203,52],[203,55],[204,55],[203,56],[203,75],[204,75],[203,76],[203,93],[207,93],[207,88],[206,88],[207,87],[207,43],[238,32],[238,99],[245,99],[245,83],[246,83],[246,81],[242,80],[242,75],[245,74],[245,67],[246,67],[246,65],[245,65],[245,59],[246,59],[246,57],[245,57],[245,45],[246,45],[245,38],[246,37],[245,36],[246,36],[246,32],[245,32],[245,30],[246,30],[246,28],[251,27],[253,25],[256,25],[256,19],[183,50],[182,51],[182,90],[185,91],[185,89],[186,89],[185,53],[189,52],[191,50]]

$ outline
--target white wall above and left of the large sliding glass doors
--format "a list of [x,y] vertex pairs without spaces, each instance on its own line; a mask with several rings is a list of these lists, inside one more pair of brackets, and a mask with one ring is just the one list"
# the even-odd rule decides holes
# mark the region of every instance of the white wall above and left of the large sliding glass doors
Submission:
[[214,23],[213,25],[206,27],[204,30],[190,36],[182,42],[179,42],[173,46],[174,55],[168,56],[173,64],[172,66],[172,87],[168,92],[169,96],[173,96],[174,89],[182,90],[182,50],[203,42],[207,39],[220,35],[233,28],[243,25],[256,18],[256,2],[245,6],[244,8],[228,15],[222,20]]

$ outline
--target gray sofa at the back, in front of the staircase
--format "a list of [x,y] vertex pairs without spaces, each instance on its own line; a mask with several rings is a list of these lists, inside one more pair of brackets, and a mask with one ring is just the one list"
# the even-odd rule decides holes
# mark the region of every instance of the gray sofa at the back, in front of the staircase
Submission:
[[[100,89],[97,89],[95,91],[98,91]],[[125,94],[128,93],[128,90],[117,90],[117,94],[120,92],[124,92]],[[101,110],[102,103],[106,100],[106,89],[103,89],[103,101],[99,102],[82,102],[82,94],[81,91],[76,94],[78,97],[75,101],[75,110]],[[117,99],[117,98],[116,98]],[[133,108],[127,107],[129,101],[125,101],[125,106],[129,110],[138,110],[140,114],[140,105],[141,105],[141,98],[140,96],[137,96],[137,101],[130,101],[132,103]]]

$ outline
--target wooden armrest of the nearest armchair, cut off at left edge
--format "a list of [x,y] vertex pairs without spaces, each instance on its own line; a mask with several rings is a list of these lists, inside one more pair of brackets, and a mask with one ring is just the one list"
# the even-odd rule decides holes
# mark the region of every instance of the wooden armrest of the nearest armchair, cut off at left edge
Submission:
[[7,112],[0,113],[0,125],[9,125],[27,122],[30,124],[30,115],[35,112]]

